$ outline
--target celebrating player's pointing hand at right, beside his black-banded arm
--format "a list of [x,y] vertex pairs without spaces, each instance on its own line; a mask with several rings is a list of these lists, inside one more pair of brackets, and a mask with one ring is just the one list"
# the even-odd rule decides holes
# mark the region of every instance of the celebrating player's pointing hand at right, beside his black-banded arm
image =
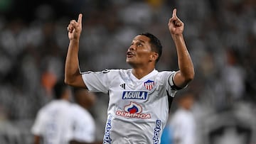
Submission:
[[184,23],[176,15],[176,9],[173,11],[173,16],[169,19],[169,31],[171,35],[181,35],[184,30]]

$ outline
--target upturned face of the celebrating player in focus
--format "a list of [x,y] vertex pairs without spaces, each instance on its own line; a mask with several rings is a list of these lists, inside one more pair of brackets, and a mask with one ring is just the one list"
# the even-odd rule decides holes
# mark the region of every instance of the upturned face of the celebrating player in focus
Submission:
[[127,50],[127,63],[132,67],[138,67],[139,65],[147,65],[152,62],[153,55],[156,52],[151,51],[150,39],[145,35],[137,35]]

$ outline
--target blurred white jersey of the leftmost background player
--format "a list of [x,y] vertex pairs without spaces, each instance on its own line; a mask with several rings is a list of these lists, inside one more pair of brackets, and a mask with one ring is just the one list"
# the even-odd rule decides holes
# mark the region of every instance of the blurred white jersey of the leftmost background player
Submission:
[[31,128],[33,135],[43,138],[43,143],[68,144],[70,131],[70,102],[53,100],[43,106]]

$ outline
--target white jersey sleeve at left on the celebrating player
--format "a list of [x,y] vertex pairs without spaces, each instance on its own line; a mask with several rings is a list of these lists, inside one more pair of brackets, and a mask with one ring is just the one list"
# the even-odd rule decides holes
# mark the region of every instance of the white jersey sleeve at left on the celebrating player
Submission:
[[102,72],[83,72],[82,80],[90,92],[107,93],[110,88],[111,70]]

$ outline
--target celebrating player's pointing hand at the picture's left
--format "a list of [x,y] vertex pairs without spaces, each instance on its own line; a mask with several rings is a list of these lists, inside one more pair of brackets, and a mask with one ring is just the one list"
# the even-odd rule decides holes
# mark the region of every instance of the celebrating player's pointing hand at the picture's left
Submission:
[[78,21],[71,20],[68,25],[68,38],[70,40],[79,40],[82,32],[82,13],[78,16]]

